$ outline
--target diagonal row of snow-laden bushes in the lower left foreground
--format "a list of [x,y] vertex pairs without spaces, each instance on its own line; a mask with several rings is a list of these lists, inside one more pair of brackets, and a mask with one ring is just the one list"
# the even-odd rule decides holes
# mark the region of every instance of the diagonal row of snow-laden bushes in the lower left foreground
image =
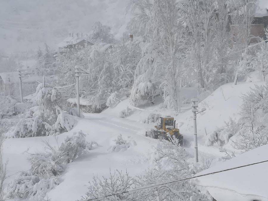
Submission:
[[67,137],[60,147],[45,142],[46,152],[30,154],[31,168],[21,172],[7,187],[9,198],[43,200],[45,194],[60,183],[67,163],[88,151],[85,134],[79,132]]

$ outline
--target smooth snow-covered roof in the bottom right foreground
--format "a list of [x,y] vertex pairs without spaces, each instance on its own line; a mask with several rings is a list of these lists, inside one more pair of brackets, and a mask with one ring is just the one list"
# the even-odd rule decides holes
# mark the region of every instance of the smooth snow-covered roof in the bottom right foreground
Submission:
[[[268,160],[268,145],[255,148],[197,175]],[[246,166],[192,179],[201,191],[208,191],[217,201],[268,200],[268,162]]]

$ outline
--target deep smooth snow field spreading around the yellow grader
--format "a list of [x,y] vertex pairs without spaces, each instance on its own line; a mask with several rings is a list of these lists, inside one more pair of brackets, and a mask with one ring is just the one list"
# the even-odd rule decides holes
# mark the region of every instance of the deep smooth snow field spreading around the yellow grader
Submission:
[[[209,133],[217,127],[224,126],[224,121],[239,118],[241,95],[245,94],[255,84],[260,82],[259,74],[252,73],[243,82],[237,85],[227,83],[216,89],[211,95],[199,103],[199,108],[206,107],[206,111],[197,115],[197,135],[199,155],[208,155],[218,160],[224,153],[219,152],[219,147],[206,147],[205,141]],[[183,90],[182,90],[183,91]],[[187,91],[187,90],[186,90]],[[184,94],[185,95],[185,94]],[[187,94],[186,94],[187,96]],[[188,98],[194,94],[189,92]],[[65,170],[62,182],[47,194],[51,201],[74,201],[84,196],[87,192],[88,181],[94,175],[108,176],[109,170],[128,170],[131,175],[136,175],[147,169],[154,159],[155,146],[158,140],[145,137],[145,131],[154,124],[141,123],[150,113],[160,113],[162,116],[170,115],[176,119],[180,133],[184,135],[185,149],[193,157],[193,120],[191,110],[182,110],[179,114],[174,111],[161,111],[158,109],[160,102],[155,105],[131,107],[129,100],[122,100],[114,108],[108,108],[99,114],[85,113],[85,118],[76,118],[78,123],[70,131],[60,135],[34,138],[9,138],[4,141],[4,159],[8,160],[7,180],[5,184],[15,178],[19,171],[27,171],[30,167],[27,161],[28,153],[43,151],[43,141],[49,141],[53,146],[58,146],[67,135],[73,135],[82,130],[87,135],[88,141],[96,141],[99,146],[69,163]],[[131,115],[127,118],[119,118],[121,110],[130,107]],[[183,108],[190,108],[191,104]],[[207,134],[206,134],[207,133]],[[126,151],[111,152],[110,148],[115,144],[113,140],[121,134],[130,142],[131,146]],[[233,150],[227,144],[226,149]],[[28,152],[28,153],[27,153]],[[236,150],[236,154],[239,151]]]

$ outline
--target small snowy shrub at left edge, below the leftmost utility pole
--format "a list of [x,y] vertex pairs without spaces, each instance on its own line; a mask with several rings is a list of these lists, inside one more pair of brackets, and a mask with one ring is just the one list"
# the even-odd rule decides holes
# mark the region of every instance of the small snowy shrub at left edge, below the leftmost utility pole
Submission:
[[15,113],[14,106],[18,101],[13,96],[0,96],[0,119]]

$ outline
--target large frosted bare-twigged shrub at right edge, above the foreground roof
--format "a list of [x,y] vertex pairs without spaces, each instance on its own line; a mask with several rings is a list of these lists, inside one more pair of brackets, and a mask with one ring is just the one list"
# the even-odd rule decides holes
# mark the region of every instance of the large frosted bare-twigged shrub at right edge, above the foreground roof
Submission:
[[268,144],[268,88],[255,85],[255,88],[242,96],[241,130],[233,146],[248,151]]

